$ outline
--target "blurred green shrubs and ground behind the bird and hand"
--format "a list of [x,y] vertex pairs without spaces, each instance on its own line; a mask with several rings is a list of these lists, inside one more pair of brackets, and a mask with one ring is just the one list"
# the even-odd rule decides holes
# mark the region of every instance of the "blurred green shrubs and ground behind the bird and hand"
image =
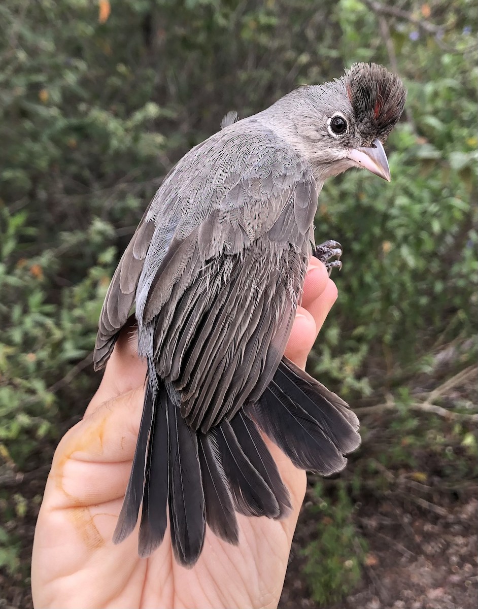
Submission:
[[309,478],[281,605],[476,607],[478,82],[472,0],[2,0],[0,607],[31,607],[52,453],[100,375],[111,274],[166,172],[219,129],[356,61],[409,90],[392,184],[327,183],[339,300],[309,371],[363,444]]

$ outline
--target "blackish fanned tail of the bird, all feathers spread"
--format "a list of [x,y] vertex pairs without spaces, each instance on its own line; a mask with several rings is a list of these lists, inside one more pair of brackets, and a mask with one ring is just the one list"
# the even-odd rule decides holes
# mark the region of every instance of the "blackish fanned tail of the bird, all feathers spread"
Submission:
[[289,492],[261,429],[304,470],[328,475],[359,446],[358,420],[337,395],[285,357],[255,404],[203,434],[180,415],[179,394],[148,381],[130,480],[114,543],[136,526],[138,552],[150,555],[163,541],[169,518],[172,547],[181,565],[202,551],[205,527],[231,544],[239,541],[236,512],[284,518]]

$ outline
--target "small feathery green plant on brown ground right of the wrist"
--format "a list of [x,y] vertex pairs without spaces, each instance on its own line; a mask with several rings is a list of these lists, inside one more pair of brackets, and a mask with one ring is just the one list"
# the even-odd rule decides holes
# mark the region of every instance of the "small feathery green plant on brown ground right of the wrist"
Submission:
[[317,518],[317,538],[304,550],[304,573],[312,598],[320,607],[341,600],[360,582],[367,543],[352,520],[353,504],[343,485],[335,499],[325,499],[322,485],[314,487],[317,505],[310,508]]

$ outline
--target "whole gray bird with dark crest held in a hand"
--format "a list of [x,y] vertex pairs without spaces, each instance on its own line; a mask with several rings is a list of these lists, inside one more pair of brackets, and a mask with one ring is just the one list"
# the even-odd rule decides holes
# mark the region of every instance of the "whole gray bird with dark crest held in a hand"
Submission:
[[[169,520],[185,566],[206,524],[237,544],[236,512],[287,516],[289,493],[260,431],[324,476],[359,446],[347,404],[283,354],[323,183],[350,167],[390,181],[382,143],[405,99],[397,76],[357,63],[230,117],[164,179],[114,272],[94,352],[99,369],[134,306],[148,373],[115,543],[135,528],[141,502],[139,554],[161,544]],[[317,250],[329,266],[337,245]]]

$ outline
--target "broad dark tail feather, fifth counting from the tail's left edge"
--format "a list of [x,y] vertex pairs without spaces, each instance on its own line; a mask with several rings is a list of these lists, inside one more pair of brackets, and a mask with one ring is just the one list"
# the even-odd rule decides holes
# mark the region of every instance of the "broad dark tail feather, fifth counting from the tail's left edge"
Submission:
[[214,431],[236,511],[245,516],[276,518],[279,515],[277,499],[245,456],[229,421],[223,419]]

